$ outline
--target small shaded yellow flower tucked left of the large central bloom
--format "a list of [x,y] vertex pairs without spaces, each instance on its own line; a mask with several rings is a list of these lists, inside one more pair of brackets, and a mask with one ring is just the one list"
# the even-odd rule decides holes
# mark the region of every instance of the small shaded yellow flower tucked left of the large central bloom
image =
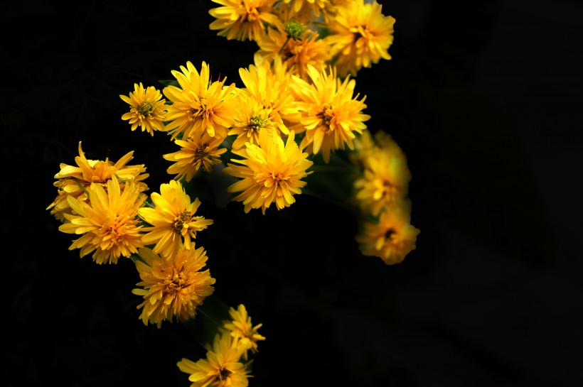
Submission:
[[211,137],[207,132],[201,134],[186,141],[174,141],[181,147],[180,151],[162,156],[166,160],[174,161],[166,172],[176,174],[175,180],[186,176],[186,181],[191,181],[200,168],[210,173],[213,172],[213,165],[220,164],[220,155],[227,151],[227,148],[220,148],[223,138]]

